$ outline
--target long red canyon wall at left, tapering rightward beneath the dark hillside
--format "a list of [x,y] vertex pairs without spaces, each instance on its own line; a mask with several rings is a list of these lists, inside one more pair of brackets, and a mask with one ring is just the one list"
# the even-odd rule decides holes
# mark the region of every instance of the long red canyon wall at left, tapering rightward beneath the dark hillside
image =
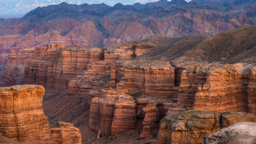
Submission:
[[46,89],[54,88],[57,91],[70,88],[69,94],[74,94],[80,87],[83,89],[76,78],[107,75],[117,60],[138,57],[155,46],[151,43],[129,42],[100,49],[76,45],[64,48],[64,44],[45,44],[43,48],[36,48],[28,58],[24,83],[40,84]]

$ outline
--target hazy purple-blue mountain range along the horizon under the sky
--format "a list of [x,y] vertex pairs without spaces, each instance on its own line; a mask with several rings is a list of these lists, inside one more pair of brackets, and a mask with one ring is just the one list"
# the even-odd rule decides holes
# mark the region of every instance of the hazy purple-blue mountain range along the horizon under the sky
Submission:
[[[213,1],[160,0],[133,5],[117,3],[114,6],[63,2],[37,7],[19,19],[1,19],[0,35],[24,36],[18,44],[25,48],[23,43],[38,41],[37,37],[45,34],[76,36],[85,39],[88,46],[103,48],[151,35],[175,37],[195,33],[213,36],[243,23],[256,24],[255,0],[228,1],[228,6],[210,2]],[[7,45],[8,49],[13,46],[17,46],[17,42]]]

